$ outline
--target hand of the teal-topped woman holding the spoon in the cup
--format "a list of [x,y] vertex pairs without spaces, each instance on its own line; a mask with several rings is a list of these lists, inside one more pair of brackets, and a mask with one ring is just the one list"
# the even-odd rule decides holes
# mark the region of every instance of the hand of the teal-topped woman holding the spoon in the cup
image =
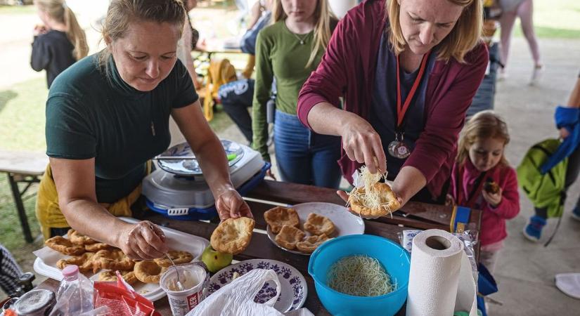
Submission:
[[135,260],[161,258],[169,251],[161,228],[148,220],[127,226],[127,229],[122,230],[115,246]]

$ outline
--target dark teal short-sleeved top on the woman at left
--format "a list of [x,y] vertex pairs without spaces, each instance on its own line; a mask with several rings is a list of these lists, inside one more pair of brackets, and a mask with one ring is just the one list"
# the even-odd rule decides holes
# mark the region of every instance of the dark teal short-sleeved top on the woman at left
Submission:
[[177,60],[153,91],[120,77],[110,58],[109,76],[98,54],[79,60],[53,82],[46,101],[46,154],[95,158],[96,196],[112,203],[129,195],[146,175],[146,162],[171,141],[172,108],[198,100],[186,67]]

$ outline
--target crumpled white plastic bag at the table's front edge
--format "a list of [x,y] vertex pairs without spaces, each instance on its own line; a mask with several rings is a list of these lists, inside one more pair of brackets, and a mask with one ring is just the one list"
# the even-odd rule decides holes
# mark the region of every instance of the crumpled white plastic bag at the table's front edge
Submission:
[[[269,281],[276,283],[276,296],[263,304],[254,302],[258,291]],[[284,314],[273,308],[274,303],[278,301],[281,288],[276,272],[254,269],[205,298],[186,316],[281,316]],[[306,308],[301,308],[292,310],[286,315],[308,316],[312,313]]]

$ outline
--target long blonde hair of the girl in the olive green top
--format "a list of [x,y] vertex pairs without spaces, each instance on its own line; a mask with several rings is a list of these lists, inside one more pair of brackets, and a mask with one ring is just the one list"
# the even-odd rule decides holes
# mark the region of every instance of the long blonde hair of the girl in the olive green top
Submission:
[[[330,23],[338,21],[335,15],[330,11],[328,0],[315,1],[318,1],[318,3],[314,10],[314,20],[316,21],[316,25],[314,25],[314,45],[312,46],[310,58],[306,63],[306,68],[312,65],[312,62],[314,62],[314,58],[316,58],[320,49],[326,50],[330,37],[333,35],[333,32],[330,29]],[[288,15],[286,15],[282,8],[282,0],[275,0],[272,8],[272,23],[286,20],[286,18],[288,18]]]

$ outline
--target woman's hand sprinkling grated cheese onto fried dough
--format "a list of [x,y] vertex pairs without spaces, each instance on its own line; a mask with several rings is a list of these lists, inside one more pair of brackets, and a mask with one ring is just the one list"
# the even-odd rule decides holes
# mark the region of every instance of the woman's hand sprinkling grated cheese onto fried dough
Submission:
[[342,147],[349,159],[366,164],[370,173],[387,170],[387,157],[380,136],[368,121],[353,115],[344,124],[342,131]]

